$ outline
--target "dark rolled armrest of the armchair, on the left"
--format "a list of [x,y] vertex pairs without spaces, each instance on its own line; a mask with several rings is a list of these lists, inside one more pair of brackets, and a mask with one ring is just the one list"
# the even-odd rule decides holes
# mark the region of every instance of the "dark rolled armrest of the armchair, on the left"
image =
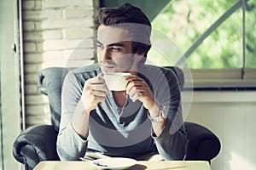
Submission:
[[27,128],[15,139],[13,155],[25,165],[34,168],[39,161],[60,160],[56,151],[57,132],[51,125],[36,125]]

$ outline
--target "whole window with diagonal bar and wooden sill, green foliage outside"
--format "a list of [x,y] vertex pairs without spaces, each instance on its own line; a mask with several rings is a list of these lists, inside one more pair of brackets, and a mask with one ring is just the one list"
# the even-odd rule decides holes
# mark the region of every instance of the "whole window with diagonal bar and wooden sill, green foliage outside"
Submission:
[[191,71],[195,88],[254,89],[255,5],[252,0],[172,0],[152,21],[148,60]]

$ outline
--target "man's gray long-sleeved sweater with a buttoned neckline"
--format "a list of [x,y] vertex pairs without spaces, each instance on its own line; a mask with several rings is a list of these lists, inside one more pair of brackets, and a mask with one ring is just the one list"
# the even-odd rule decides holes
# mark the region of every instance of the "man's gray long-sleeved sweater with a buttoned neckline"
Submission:
[[139,76],[148,82],[160,105],[168,107],[168,119],[160,136],[152,133],[148,111],[139,100],[132,102],[128,97],[125,106],[119,108],[110,91],[105,101],[90,113],[88,138],[80,138],[71,125],[73,111],[81,97],[84,82],[100,72],[98,64],[89,65],[70,71],[65,78],[57,139],[61,160],[79,160],[86,151],[134,159],[156,151],[166,160],[182,160],[187,138],[177,77],[172,71],[153,65],[141,66]]

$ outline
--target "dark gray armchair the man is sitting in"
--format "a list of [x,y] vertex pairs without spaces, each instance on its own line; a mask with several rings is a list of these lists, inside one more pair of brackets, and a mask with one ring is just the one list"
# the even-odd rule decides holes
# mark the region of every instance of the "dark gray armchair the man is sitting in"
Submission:
[[[177,74],[183,88],[183,71],[177,67],[167,67]],[[25,165],[26,170],[33,169],[39,161],[60,160],[56,152],[56,139],[61,119],[61,87],[69,69],[52,67],[39,74],[39,89],[49,98],[52,125],[36,125],[20,133],[14,143],[13,155]],[[206,127],[193,122],[184,122],[189,145],[185,160],[211,161],[218,155],[220,142],[215,134]]]

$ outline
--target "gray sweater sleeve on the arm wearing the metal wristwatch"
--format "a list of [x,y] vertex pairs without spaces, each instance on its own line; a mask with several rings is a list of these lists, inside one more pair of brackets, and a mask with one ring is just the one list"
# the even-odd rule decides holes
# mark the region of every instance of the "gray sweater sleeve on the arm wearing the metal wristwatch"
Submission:
[[165,160],[183,160],[188,141],[183,125],[181,90],[174,74],[169,72],[165,75],[168,85],[160,83],[161,88],[158,89],[162,91],[156,94],[156,98],[161,105],[169,105],[168,118],[160,136],[153,134],[153,138],[160,156]]

